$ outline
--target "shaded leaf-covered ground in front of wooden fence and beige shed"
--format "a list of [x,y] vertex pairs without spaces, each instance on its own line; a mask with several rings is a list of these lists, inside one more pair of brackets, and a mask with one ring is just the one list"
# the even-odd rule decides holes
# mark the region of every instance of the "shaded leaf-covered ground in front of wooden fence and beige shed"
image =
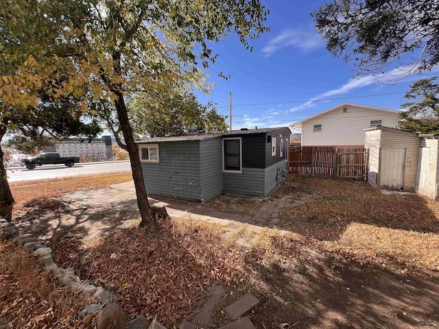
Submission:
[[[420,195],[383,195],[367,182],[289,176],[289,193],[309,189],[320,199],[288,208],[281,226],[324,241],[337,241],[351,223],[439,233],[439,202]],[[282,188],[282,187],[281,187]]]

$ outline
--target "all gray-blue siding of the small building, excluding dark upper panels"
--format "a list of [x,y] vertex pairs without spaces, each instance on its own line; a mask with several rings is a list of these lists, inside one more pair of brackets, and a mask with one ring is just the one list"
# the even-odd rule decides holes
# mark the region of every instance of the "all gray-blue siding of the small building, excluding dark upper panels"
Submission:
[[265,169],[242,168],[242,173],[222,172],[222,138],[205,141],[159,143],[159,163],[142,162],[148,193],[206,202],[222,191],[266,197],[284,178],[281,160]]

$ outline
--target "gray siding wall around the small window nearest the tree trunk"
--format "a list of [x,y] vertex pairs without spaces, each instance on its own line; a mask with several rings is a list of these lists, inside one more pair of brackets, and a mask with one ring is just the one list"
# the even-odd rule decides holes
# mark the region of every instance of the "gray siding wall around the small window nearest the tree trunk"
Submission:
[[158,152],[159,163],[141,162],[147,192],[200,200],[200,141],[158,143]]

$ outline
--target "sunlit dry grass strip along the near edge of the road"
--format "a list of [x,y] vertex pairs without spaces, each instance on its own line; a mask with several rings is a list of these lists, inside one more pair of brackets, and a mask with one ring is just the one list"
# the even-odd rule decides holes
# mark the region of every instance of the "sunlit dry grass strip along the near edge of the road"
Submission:
[[34,199],[51,199],[65,193],[80,189],[93,190],[106,188],[112,184],[132,180],[132,173],[105,173],[102,175],[85,175],[55,180],[32,180],[27,182],[12,182],[10,188],[16,202],[21,207]]

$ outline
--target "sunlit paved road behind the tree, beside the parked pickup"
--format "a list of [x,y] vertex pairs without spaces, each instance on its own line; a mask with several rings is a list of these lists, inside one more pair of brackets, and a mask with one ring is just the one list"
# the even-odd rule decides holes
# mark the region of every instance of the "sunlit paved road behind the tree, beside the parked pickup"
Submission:
[[64,164],[46,165],[33,170],[25,167],[8,169],[8,182],[21,182],[23,180],[46,180],[78,175],[97,175],[99,173],[115,173],[131,171],[130,161],[109,161],[94,163],[77,163],[73,167]]

